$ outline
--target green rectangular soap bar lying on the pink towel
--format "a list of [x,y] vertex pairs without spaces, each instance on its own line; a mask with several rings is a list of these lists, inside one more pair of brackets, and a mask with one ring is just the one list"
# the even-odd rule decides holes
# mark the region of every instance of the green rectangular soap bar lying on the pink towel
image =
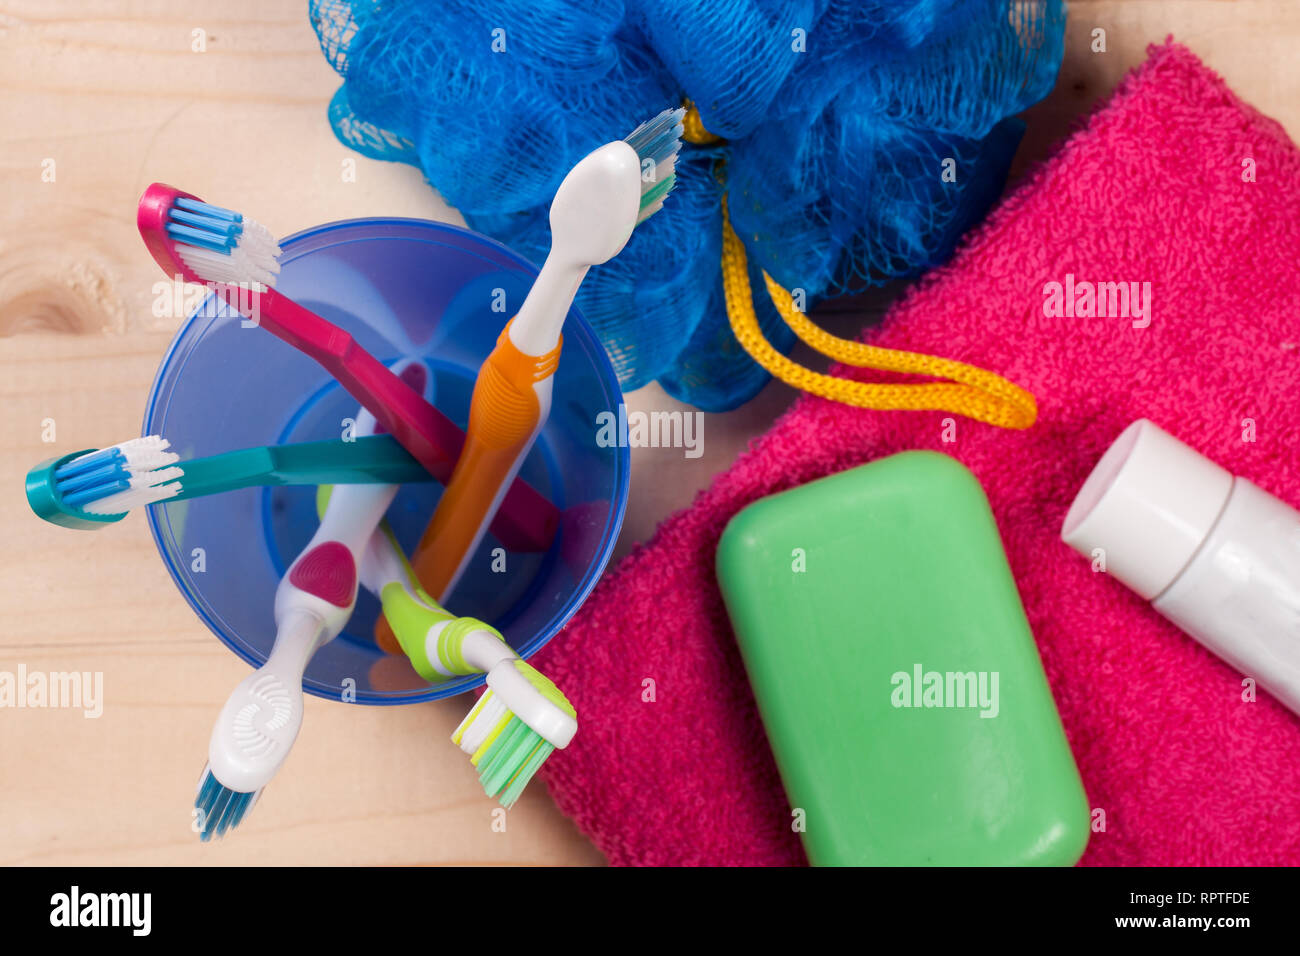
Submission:
[[718,580],[814,865],[1079,860],[1087,796],[965,466],[905,451],[754,502]]

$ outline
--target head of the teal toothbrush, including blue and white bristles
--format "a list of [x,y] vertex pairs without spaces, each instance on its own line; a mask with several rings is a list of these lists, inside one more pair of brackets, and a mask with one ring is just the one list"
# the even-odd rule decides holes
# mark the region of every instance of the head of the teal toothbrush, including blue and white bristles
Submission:
[[131,509],[181,493],[185,471],[169,447],[151,434],[43,462],[27,472],[27,503],[53,524],[103,528]]

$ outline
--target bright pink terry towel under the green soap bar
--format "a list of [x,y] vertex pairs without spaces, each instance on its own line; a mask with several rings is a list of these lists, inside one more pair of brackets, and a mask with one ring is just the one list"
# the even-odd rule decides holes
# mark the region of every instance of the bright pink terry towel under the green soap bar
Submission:
[[[612,864],[802,862],[714,549],[755,498],[924,447],[965,462],[993,505],[1091,806],[1105,812],[1084,862],[1300,864],[1300,719],[1268,695],[1243,701],[1242,675],[1058,537],[1093,463],[1144,416],[1300,503],[1297,258],[1296,147],[1186,48],[1152,47],[867,336],[1002,372],[1037,395],[1039,423],[957,419],[945,442],[942,414],[801,398],[542,654],[581,714],[545,770],[560,808]],[[1147,319],[1132,303],[1128,316],[1046,316],[1044,287],[1069,276],[1076,295],[1084,282],[1149,282],[1149,325],[1135,328]]]

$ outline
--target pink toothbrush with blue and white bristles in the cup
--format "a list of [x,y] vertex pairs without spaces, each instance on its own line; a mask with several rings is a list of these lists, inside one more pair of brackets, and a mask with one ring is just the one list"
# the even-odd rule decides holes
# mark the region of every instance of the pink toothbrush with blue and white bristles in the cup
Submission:
[[[140,196],[136,225],[164,273],[211,287],[240,315],[316,359],[434,479],[451,479],[464,432],[351,334],[274,290],[280,246],[265,226],[160,182]],[[541,551],[558,522],[555,506],[516,479],[491,531],[511,550]]]

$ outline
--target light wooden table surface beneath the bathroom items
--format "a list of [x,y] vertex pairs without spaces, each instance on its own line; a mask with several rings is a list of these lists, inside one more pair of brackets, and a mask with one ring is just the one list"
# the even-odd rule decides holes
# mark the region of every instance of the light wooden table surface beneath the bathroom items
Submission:
[[[0,671],[104,675],[98,719],[0,710],[0,864],[601,862],[541,786],[494,831],[494,804],[446,740],[465,698],[358,708],[309,697],[256,813],[234,838],[200,845],[194,784],[217,709],[247,669],[176,591],[143,515],[74,533],[32,518],[20,490],[35,462],[139,428],[178,324],[151,313],[156,267],[134,225],[150,182],[239,196],[277,234],[372,215],[460,221],[417,170],[334,139],[325,105],[339,81],[304,7],[0,0]],[[1022,159],[1041,156],[1170,33],[1300,134],[1300,4],[1095,0],[1070,12],[1061,81],[1031,112]],[[1089,51],[1095,27],[1105,53]],[[205,52],[191,49],[195,30]],[[343,181],[344,161],[355,182]],[[852,334],[880,304],[828,321]],[[708,416],[698,459],[634,450],[619,553],[689,503],[790,399],[774,385]],[[654,386],[629,405],[675,407]],[[47,420],[53,444],[42,440]]]

